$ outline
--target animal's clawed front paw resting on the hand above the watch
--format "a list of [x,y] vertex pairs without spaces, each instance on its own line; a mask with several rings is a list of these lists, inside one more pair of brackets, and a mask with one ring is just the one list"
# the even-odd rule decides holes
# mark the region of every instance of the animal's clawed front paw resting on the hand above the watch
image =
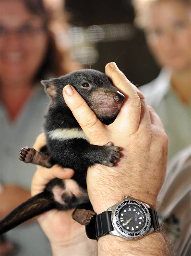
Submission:
[[100,161],[101,164],[104,164],[108,167],[113,167],[117,162],[117,158],[120,158],[120,148],[116,146],[112,146],[112,142],[108,142],[103,146],[103,160]]

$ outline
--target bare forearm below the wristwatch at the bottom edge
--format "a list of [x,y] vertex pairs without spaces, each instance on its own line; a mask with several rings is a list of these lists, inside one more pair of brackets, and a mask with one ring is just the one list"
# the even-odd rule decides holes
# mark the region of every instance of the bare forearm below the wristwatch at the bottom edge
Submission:
[[137,241],[106,235],[98,241],[98,256],[170,256],[168,241],[162,232],[151,233]]

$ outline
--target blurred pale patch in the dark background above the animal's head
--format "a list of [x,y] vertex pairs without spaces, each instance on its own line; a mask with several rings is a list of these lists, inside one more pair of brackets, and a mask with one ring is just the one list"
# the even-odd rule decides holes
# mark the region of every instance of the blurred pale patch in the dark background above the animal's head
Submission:
[[131,40],[134,35],[135,29],[129,23],[72,27],[69,29],[72,57],[82,65],[92,65],[99,58],[96,44],[127,41]]

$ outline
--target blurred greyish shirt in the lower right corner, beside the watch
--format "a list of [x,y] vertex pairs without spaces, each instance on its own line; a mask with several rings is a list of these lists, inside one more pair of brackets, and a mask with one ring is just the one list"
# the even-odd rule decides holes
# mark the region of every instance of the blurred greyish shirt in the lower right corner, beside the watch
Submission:
[[175,256],[191,255],[191,146],[178,152],[168,164],[159,195],[158,211]]

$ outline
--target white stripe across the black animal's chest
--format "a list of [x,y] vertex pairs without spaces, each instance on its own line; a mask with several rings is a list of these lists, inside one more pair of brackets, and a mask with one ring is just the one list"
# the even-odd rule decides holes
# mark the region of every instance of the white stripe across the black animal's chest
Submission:
[[51,139],[59,139],[59,140],[65,140],[65,139],[86,139],[88,142],[85,133],[78,128],[71,128],[71,129],[56,129],[53,131],[48,132],[48,137]]

